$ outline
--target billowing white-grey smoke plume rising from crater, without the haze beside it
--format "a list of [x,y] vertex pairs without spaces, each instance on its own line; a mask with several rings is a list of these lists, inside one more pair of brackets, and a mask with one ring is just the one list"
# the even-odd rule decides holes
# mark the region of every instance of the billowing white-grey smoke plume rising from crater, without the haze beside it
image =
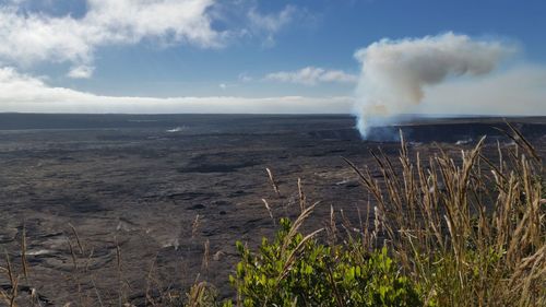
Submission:
[[355,54],[363,67],[356,90],[357,128],[366,138],[370,128],[417,110],[427,86],[450,76],[487,74],[513,51],[501,42],[453,33],[373,43]]

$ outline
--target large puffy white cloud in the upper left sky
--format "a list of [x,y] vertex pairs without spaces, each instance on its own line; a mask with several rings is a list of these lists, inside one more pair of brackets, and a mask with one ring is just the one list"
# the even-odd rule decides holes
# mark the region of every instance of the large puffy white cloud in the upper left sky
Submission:
[[[201,47],[222,45],[207,9],[214,0],[87,0],[81,19],[50,16],[0,4],[0,60],[16,66],[36,61],[70,62],[85,67],[96,48],[136,44],[143,39],[187,43]],[[71,75],[91,75],[79,69]]]

